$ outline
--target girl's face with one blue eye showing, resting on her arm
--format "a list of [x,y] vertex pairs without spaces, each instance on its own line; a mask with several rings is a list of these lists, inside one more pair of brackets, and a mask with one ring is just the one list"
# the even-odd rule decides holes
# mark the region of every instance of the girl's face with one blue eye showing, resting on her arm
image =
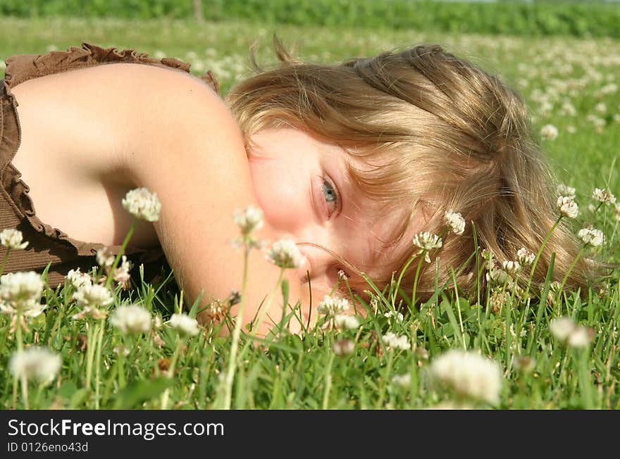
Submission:
[[[411,246],[414,225],[398,244],[387,246],[406,209],[385,213],[356,191],[346,165],[364,164],[339,146],[291,127],[266,129],[252,137],[248,157],[256,199],[278,237],[325,246],[371,278],[389,276],[394,254]],[[299,275],[307,281],[309,274],[313,289],[330,293],[339,270],[354,276],[330,253],[298,247],[306,256]]]

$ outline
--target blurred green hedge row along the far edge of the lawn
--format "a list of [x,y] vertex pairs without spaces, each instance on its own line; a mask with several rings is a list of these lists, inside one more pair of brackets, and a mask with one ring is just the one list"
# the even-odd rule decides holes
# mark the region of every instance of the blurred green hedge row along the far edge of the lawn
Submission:
[[620,6],[602,0],[0,0],[0,14],[620,37]]

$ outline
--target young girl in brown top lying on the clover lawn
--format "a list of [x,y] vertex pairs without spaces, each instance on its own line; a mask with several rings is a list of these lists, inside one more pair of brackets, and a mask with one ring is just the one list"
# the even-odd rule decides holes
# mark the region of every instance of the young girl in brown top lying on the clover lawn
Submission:
[[[189,304],[201,292],[206,304],[240,288],[232,215],[249,204],[264,213],[259,239],[292,237],[306,257],[287,271],[289,301],[299,298],[304,318],[344,285],[339,279],[364,297],[363,274],[379,288],[402,274],[411,294],[412,256],[433,261],[421,263],[419,301],[452,276],[471,289],[483,263],[476,244],[500,264],[522,248],[538,252],[559,217],[556,188],[523,102],[500,80],[434,45],[336,65],[276,51],[278,68],[225,100],[210,74],[193,77],[185,63],[132,50],[83,44],[8,58],[1,227],[18,227],[30,245],[10,253],[5,272],[51,263],[55,285],[70,269],[89,270],[97,249],[123,241],[132,217],[121,200],[135,187],[156,192],[161,217],[140,224],[128,253],[157,264],[163,249]],[[431,240],[422,250],[423,231],[442,246]],[[552,253],[553,279],[562,280],[577,252],[561,221],[531,291]],[[591,270],[580,260],[567,287],[585,287]],[[244,322],[279,269],[253,255],[248,272]]]

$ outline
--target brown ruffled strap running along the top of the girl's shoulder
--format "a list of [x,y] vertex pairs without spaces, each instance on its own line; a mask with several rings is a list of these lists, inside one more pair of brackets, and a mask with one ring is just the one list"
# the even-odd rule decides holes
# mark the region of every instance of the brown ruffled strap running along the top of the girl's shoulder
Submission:
[[[27,80],[32,80],[32,78],[106,63],[156,65],[190,73],[190,64],[175,58],[156,59],[145,53],[137,53],[133,49],[118,51],[115,47],[101,48],[101,46],[89,43],[82,43],[81,48],[71,46],[67,51],[50,51],[47,54],[18,54],[7,58],[5,62],[4,81],[8,89]],[[209,71],[200,75],[199,78],[219,94],[219,84],[213,77],[213,73]]]

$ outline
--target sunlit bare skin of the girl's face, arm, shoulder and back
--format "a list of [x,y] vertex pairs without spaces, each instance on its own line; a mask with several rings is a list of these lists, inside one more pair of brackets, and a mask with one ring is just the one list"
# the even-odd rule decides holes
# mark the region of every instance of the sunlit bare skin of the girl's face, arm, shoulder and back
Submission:
[[[175,91],[163,99],[136,95],[159,94],[161,87]],[[311,316],[310,323],[311,308],[332,291],[338,271],[355,274],[304,243],[325,246],[371,278],[389,277],[397,269],[390,261],[419,230],[411,225],[398,244],[387,244],[407,207],[385,213],[355,189],[345,165],[357,160],[340,146],[289,127],[254,134],[247,152],[223,101],[188,75],[111,64],[28,80],[13,94],[22,128],[13,164],[30,186],[39,218],[78,240],[120,244],[132,223],[120,206],[125,193],[140,186],[156,192],[161,219],[142,223],[131,243],[161,244],[189,303],[203,288],[206,301],[240,288],[242,256],[230,246],[238,232],[233,211],[252,203],[265,215],[259,237],[292,237],[307,258],[285,276],[290,304],[302,298],[302,317]],[[183,111],[170,118],[179,106]],[[244,322],[273,290],[279,270],[254,255],[249,272]],[[269,317],[280,317],[278,301]],[[292,332],[299,332],[296,324]],[[268,318],[261,334],[271,325]]]

